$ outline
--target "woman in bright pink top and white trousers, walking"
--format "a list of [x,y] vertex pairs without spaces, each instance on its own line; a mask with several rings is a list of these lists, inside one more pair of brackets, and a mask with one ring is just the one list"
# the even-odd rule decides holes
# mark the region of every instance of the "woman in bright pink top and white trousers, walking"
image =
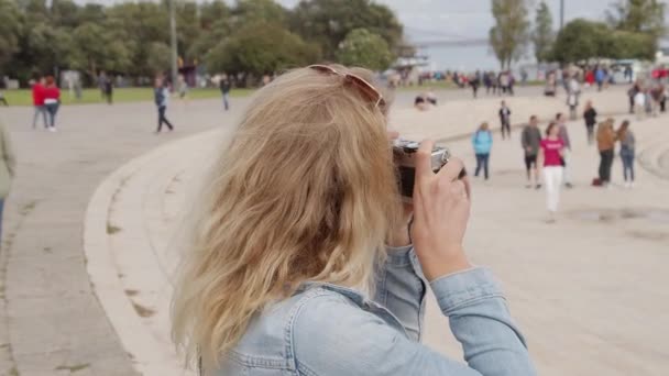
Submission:
[[551,122],[546,129],[546,139],[541,140],[539,150],[539,165],[544,168],[544,184],[546,186],[546,201],[548,207],[548,222],[556,221],[556,212],[560,202],[560,187],[564,173],[564,141],[560,137],[560,128]]

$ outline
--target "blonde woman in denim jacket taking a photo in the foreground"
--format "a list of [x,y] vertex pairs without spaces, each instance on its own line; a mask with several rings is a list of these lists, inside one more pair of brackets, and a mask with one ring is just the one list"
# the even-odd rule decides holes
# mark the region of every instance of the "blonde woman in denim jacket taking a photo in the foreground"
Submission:
[[[463,252],[462,163],[432,173],[431,142],[409,236],[370,77],[278,77],[221,153],[173,302],[174,339],[204,375],[535,374],[500,288]],[[467,364],[419,343],[428,284]]]

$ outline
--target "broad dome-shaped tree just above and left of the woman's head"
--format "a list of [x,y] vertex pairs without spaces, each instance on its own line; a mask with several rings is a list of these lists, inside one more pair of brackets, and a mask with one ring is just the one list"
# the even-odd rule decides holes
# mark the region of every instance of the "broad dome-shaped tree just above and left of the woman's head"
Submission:
[[318,47],[277,24],[257,22],[235,31],[207,54],[210,71],[256,76],[315,63]]

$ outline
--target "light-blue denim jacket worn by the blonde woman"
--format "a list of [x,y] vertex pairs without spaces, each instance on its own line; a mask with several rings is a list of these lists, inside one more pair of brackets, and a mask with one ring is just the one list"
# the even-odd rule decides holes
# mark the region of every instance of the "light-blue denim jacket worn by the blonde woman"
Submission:
[[535,375],[525,340],[484,268],[430,284],[467,364],[419,343],[427,281],[413,247],[390,248],[374,299],[329,284],[305,284],[251,321],[207,376]]

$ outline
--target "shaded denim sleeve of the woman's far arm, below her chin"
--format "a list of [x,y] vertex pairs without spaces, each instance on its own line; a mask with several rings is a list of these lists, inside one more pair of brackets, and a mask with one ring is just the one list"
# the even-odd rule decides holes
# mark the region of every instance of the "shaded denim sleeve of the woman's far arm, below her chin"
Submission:
[[374,301],[387,308],[414,341],[420,341],[427,281],[412,245],[386,248],[376,270]]

